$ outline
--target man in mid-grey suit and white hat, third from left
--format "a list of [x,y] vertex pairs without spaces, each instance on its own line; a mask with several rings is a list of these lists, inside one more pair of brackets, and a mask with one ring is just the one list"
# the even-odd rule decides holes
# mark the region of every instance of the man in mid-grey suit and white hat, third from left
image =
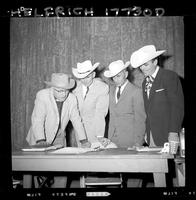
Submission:
[[[109,64],[104,76],[111,78],[109,95],[108,138],[118,147],[141,146],[145,135],[145,110],[142,90],[128,79],[129,62],[117,60]],[[140,187],[141,179],[137,175],[123,175],[124,187]]]

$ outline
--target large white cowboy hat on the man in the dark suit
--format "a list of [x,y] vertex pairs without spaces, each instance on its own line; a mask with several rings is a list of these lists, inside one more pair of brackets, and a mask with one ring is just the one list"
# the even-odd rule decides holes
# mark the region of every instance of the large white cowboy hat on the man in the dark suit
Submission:
[[164,53],[165,50],[156,51],[154,45],[147,45],[132,53],[130,63],[133,68],[137,68],[144,63],[156,58]]

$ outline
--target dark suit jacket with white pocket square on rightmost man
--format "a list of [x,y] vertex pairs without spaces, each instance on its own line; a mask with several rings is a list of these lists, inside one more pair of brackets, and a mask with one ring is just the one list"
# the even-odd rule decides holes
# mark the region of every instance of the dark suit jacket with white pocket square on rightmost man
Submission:
[[149,143],[150,131],[157,146],[168,141],[169,132],[179,132],[184,117],[184,95],[178,75],[159,68],[150,90],[149,99],[142,83],[147,114],[146,128]]

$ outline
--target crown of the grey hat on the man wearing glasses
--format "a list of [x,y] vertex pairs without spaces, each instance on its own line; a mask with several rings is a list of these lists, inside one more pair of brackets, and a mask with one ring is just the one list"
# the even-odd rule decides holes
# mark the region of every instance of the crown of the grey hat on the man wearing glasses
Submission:
[[54,87],[67,87],[70,85],[70,76],[63,73],[53,73],[51,83]]

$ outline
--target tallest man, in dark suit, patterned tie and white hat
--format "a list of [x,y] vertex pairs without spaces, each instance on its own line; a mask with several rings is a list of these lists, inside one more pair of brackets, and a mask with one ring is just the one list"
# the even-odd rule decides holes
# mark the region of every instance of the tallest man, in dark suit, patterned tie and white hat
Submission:
[[164,52],[147,45],[133,52],[130,58],[132,67],[139,67],[146,77],[142,88],[150,146],[163,146],[168,140],[179,141],[184,117],[184,96],[178,75],[158,66],[157,57]]

